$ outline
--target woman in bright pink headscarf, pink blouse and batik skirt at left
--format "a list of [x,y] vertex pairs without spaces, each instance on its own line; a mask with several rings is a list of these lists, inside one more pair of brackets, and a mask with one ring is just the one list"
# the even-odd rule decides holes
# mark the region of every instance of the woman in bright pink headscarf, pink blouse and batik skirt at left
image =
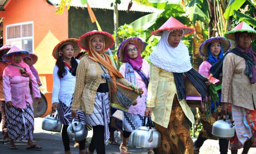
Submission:
[[28,51],[13,46],[2,57],[4,61],[10,63],[3,72],[6,115],[9,121],[7,128],[11,139],[9,149],[18,149],[14,145],[14,140],[28,140],[27,149],[42,148],[33,143],[34,110],[30,91],[32,91],[38,103],[41,102],[41,95],[36,78],[33,76],[30,67],[22,59],[27,55],[29,55]]

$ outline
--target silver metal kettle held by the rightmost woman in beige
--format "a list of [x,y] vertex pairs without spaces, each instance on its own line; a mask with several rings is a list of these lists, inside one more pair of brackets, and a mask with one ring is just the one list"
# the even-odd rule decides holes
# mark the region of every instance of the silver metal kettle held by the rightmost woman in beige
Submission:
[[228,114],[228,119],[220,120],[220,113],[218,115],[218,121],[212,125],[212,135],[220,139],[229,139],[235,136],[235,123],[231,121],[231,114]]

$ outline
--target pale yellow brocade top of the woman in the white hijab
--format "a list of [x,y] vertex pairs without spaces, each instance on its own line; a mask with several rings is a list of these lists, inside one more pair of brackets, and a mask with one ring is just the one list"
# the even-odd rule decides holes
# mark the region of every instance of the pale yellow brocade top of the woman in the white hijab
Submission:
[[[175,94],[178,97],[173,72],[150,63],[147,107],[152,107],[152,121],[167,128]],[[179,101],[185,116],[194,124],[194,115],[186,100]]]

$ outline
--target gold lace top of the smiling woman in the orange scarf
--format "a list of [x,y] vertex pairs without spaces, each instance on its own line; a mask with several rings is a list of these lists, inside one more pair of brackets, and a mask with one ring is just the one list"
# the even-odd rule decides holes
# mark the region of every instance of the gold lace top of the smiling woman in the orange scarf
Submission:
[[[106,69],[106,71],[108,73],[108,69]],[[76,70],[72,110],[82,110],[88,114],[93,113],[97,88],[99,87],[99,84],[106,83],[106,79],[101,77],[103,73],[104,71],[99,64],[94,62],[87,55],[80,60]],[[126,87],[131,85],[125,78],[116,77],[116,81]],[[111,83],[108,83],[109,97],[111,98],[110,86]],[[137,86],[136,88],[138,89]]]

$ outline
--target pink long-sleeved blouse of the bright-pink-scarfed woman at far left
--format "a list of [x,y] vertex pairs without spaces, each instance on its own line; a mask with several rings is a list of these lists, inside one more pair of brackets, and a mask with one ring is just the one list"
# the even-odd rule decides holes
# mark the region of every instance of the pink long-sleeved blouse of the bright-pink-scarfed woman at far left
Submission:
[[[32,92],[34,98],[41,97],[36,78],[32,77]],[[18,108],[26,108],[26,102],[32,106],[32,97],[29,88],[29,78],[25,76],[4,76],[3,89],[5,101],[11,101]]]

